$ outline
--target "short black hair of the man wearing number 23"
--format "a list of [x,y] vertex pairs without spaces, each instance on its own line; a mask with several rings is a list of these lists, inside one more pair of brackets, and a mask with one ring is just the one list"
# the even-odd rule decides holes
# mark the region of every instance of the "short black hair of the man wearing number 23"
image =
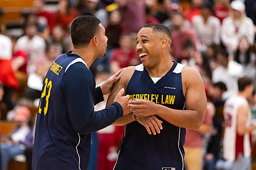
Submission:
[[99,31],[100,20],[91,15],[77,17],[71,25],[71,39],[74,47],[88,45]]

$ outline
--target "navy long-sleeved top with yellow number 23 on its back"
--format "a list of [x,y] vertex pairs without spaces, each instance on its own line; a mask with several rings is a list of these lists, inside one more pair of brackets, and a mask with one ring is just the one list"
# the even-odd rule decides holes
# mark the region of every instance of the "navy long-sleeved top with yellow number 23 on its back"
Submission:
[[114,102],[94,111],[103,101],[100,87],[86,63],[68,52],[51,65],[37,113],[32,169],[87,169],[91,132],[123,115]]

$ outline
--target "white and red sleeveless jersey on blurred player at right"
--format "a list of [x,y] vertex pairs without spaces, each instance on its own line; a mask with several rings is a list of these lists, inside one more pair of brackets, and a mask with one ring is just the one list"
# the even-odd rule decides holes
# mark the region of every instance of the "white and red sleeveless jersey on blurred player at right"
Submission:
[[[241,105],[249,107],[249,103],[242,96],[231,96],[224,105],[225,132],[223,140],[224,158],[230,161],[236,160],[238,154],[244,157],[251,155],[249,133],[240,136],[237,134],[238,108]],[[251,122],[251,110],[248,111],[246,126]]]

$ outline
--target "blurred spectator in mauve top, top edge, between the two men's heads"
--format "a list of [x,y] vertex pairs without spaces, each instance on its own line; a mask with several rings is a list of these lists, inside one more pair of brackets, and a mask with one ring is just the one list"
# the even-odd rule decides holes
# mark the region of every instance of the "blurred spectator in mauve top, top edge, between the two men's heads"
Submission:
[[136,33],[146,23],[145,0],[115,0],[122,14],[124,32]]

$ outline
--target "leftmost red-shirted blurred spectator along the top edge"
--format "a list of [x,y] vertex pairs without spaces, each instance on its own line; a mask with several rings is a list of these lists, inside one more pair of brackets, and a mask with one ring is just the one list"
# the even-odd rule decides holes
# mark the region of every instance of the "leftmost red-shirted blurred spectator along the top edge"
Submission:
[[48,24],[48,28],[52,31],[55,23],[54,16],[52,13],[45,11],[45,1],[44,0],[33,0],[33,10],[35,15],[37,16],[37,20],[39,23],[45,25]]

